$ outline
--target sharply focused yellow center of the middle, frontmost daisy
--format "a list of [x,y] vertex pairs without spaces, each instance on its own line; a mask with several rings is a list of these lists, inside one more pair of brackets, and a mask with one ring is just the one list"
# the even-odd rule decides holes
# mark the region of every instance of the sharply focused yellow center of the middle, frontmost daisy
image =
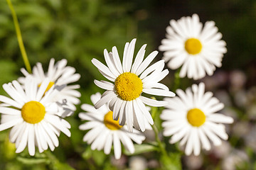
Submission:
[[143,84],[136,74],[125,72],[115,79],[114,87],[122,100],[132,101],[142,94]]

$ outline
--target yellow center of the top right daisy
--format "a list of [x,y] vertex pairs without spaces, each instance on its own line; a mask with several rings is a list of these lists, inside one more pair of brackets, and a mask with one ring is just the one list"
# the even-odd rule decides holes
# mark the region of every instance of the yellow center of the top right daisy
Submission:
[[189,38],[185,42],[185,49],[188,54],[197,55],[202,50],[202,44],[200,40],[196,38]]

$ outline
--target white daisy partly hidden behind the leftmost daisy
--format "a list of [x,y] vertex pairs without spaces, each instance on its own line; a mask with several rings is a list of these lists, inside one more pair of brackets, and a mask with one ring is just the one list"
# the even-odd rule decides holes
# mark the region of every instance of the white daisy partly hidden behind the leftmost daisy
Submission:
[[[43,71],[43,67],[40,62],[33,67],[32,74],[29,74],[24,68],[21,69],[21,72],[25,75],[25,77],[32,76],[34,79],[36,79],[36,84],[38,84],[38,86],[41,85],[44,79],[50,79],[50,83],[48,84],[46,91],[48,91],[48,89],[55,84],[55,89],[60,91],[60,93],[55,96],[55,101],[58,101],[61,105],[65,105],[66,108],[70,108],[72,111],[75,111],[75,105],[80,103],[78,98],[81,96],[81,94],[76,90],[80,88],[80,85],[68,84],[78,81],[78,79],[80,79],[80,74],[75,73],[74,67],[66,66],[67,60],[65,59],[60,60],[56,64],[54,64],[54,62],[55,60],[53,58],[50,59],[47,73]],[[24,84],[25,77],[20,77],[18,81],[20,81],[21,84]],[[63,113],[63,117],[70,115],[70,113],[73,112]]]

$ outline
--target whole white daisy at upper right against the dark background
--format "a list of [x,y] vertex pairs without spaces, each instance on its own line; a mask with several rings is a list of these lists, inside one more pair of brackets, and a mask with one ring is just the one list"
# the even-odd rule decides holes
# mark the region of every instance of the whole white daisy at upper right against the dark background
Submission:
[[171,69],[181,67],[180,77],[201,79],[212,75],[215,67],[221,67],[223,54],[227,52],[226,43],[221,40],[214,21],[203,23],[197,14],[171,20],[166,28],[166,39],[159,46],[164,51],[163,59]]

